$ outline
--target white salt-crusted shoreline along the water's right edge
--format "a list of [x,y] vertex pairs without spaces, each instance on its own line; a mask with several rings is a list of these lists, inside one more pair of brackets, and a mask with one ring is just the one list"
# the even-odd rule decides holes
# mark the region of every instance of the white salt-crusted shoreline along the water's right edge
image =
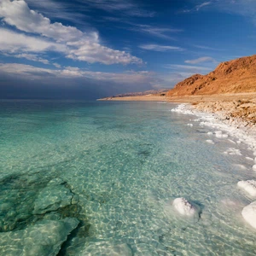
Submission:
[[[228,102],[230,103],[230,102]],[[206,104],[202,104],[206,105]],[[207,108],[196,108],[196,106],[186,104],[179,104],[177,108],[172,108],[172,112],[176,113],[183,113],[183,114],[192,114],[197,117],[192,122],[200,122],[201,126],[207,126],[209,129],[213,131],[208,131],[207,135],[209,139],[206,140],[206,143],[215,144],[215,139],[224,139],[229,140],[230,143],[234,145],[224,151],[224,154],[233,155],[233,156],[242,156],[245,160],[251,161],[251,168],[246,168],[245,166],[241,166],[242,168],[247,169],[248,172],[256,173],[256,125],[253,123],[246,122],[241,118],[235,119],[227,119],[226,112],[215,112],[212,113],[209,111],[208,113],[206,110]],[[210,108],[211,109],[211,108]],[[203,111],[202,111],[203,110]],[[212,110],[212,109],[211,109]],[[246,125],[245,125],[246,124]],[[193,123],[188,124],[189,126],[193,126]],[[229,137],[232,137],[230,139]],[[236,139],[234,141],[234,138]],[[218,143],[218,142],[217,142]],[[247,149],[252,151],[251,154],[241,154],[240,145],[244,143],[247,145]],[[243,207],[241,210],[241,216],[250,224],[251,227],[256,229],[256,180],[255,174],[253,173],[250,179],[241,179],[238,181],[236,185],[237,189],[243,190],[247,195],[250,195],[249,204],[246,207]]]

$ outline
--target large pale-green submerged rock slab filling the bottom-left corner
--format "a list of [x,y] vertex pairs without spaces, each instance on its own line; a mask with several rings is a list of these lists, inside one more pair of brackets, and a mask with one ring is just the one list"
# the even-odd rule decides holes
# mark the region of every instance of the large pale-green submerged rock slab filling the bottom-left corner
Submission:
[[43,220],[25,230],[0,233],[0,255],[56,255],[78,224],[76,218]]

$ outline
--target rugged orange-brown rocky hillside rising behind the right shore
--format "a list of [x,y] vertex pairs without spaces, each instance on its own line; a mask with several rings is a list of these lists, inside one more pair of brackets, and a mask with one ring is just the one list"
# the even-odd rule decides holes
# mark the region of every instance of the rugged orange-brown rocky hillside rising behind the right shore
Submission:
[[256,92],[256,55],[222,62],[207,75],[195,74],[178,83],[167,96]]

